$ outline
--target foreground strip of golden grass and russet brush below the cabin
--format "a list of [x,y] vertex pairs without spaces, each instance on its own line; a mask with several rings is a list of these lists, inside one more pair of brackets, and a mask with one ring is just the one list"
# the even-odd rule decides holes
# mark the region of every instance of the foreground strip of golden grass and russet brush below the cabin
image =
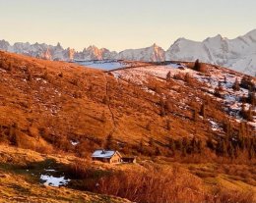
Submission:
[[[71,179],[66,187],[46,186],[39,179],[41,175],[59,177],[63,173]],[[216,183],[212,180],[211,184]],[[245,184],[242,190],[237,190],[234,182],[213,185],[208,189],[203,179],[178,164],[114,166],[69,154],[46,155],[0,145],[1,202],[129,202],[112,195],[137,202],[254,201],[253,190]]]

